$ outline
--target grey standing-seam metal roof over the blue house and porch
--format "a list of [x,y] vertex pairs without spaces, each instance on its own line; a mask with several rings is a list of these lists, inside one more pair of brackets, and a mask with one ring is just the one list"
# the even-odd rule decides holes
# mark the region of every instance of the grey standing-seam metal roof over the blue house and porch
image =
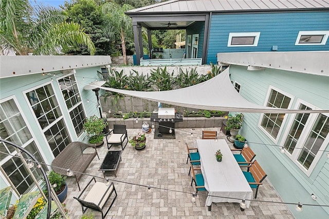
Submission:
[[329,0],[171,0],[127,11],[139,13],[329,9]]

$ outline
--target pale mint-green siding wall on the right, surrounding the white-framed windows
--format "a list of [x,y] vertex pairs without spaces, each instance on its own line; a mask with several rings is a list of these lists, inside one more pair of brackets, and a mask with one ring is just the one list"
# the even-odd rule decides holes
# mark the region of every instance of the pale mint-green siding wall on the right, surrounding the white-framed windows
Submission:
[[[247,67],[230,67],[231,81],[241,84],[241,95],[247,100],[264,105],[269,86],[294,96],[293,107],[300,98],[322,109],[329,108],[329,77],[301,74],[283,70],[266,69],[247,71]],[[244,113],[244,122],[240,134],[246,136],[251,149],[257,154],[268,174],[267,178],[283,198],[284,202],[315,205],[329,205],[329,159],[321,155],[317,166],[307,176],[287,155],[280,153],[280,147],[270,140],[258,128],[261,117],[259,113]],[[287,132],[287,121],[293,115],[286,114],[287,120],[283,130]],[[280,140],[283,136],[280,135]],[[251,143],[255,142],[255,143]],[[260,144],[257,144],[260,143]],[[329,150],[327,145],[326,149]],[[260,187],[260,191],[264,187]],[[314,193],[317,200],[310,195]],[[328,218],[329,208],[303,206],[302,212],[295,210],[295,205],[288,205],[296,218]]]

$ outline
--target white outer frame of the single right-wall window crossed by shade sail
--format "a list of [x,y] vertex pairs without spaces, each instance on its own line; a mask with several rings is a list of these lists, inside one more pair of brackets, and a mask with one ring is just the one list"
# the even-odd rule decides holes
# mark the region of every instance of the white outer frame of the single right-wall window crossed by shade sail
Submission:
[[[269,99],[269,95],[270,95],[272,89],[273,89],[273,90],[276,90],[277,92],[279,92],[279,93],[281,93],[281,94],[283,94],[284,96],[289,97],[289,98],[290,98],[290,103],[289,103],[287,109],[291,108],[291,105],[293,104],[293,102],[294,102],[294,98],[295,98],[295,97],[294,97],[293,95],[288,94],[287,92],[284,92],[283,90],[281,90],[281,89],[279,89],[279,88],[277,88],[277,87],[271,86],[271,85],[268,87],[267,95],[266,95],[265,102],[264,102],[264,106],[267,105],[267,101],[268,101],[268,99]],[[269,139],[271,139],[274,143],[277,144],[277,143],[279,142],[279,139],[281,139],[280,136],[281,136],[281,133],[282,133],[282,131],[283,131],[283,127],[285,126],[285,123],[286,123],[286,120],[287,120],[288,115],[286,114],[286,115],[284,116],[283,120],[282,120],[282,124],[281,124],[280,130],[279,130],[279,132],[278,132],[277,138],[273,138],[273,136],[271,136],[271,135],[270,135],[270,134],[264,129],[264,127],[262,126],[262,120],[263,120],[263,117],[264,117],[264,113],[262,113],[262,115],[260,116],[260,120],[258,121],[258,127],[259,127],[259,129],[262,130],[262,132],[263,132],[267,137],[269,137]]]

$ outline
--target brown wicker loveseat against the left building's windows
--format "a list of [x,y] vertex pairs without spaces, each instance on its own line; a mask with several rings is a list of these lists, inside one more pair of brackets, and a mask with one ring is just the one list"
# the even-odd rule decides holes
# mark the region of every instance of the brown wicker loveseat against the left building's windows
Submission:
[[73,171],[80,191],[79,180],[96,155],[99,159],[93,144],[80,141],[71,142],[52,160],[52,170],[62,175],[66,175],[68,169]]

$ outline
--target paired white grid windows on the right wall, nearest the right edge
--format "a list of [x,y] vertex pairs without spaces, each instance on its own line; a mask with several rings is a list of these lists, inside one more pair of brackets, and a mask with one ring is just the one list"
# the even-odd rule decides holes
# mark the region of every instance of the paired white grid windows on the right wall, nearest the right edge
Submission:
[[[299,103],[299,109],[312,109]],[[329,117],[324,114],[296,114],[283,147],[287,155],[308,175],[329,142]]]

